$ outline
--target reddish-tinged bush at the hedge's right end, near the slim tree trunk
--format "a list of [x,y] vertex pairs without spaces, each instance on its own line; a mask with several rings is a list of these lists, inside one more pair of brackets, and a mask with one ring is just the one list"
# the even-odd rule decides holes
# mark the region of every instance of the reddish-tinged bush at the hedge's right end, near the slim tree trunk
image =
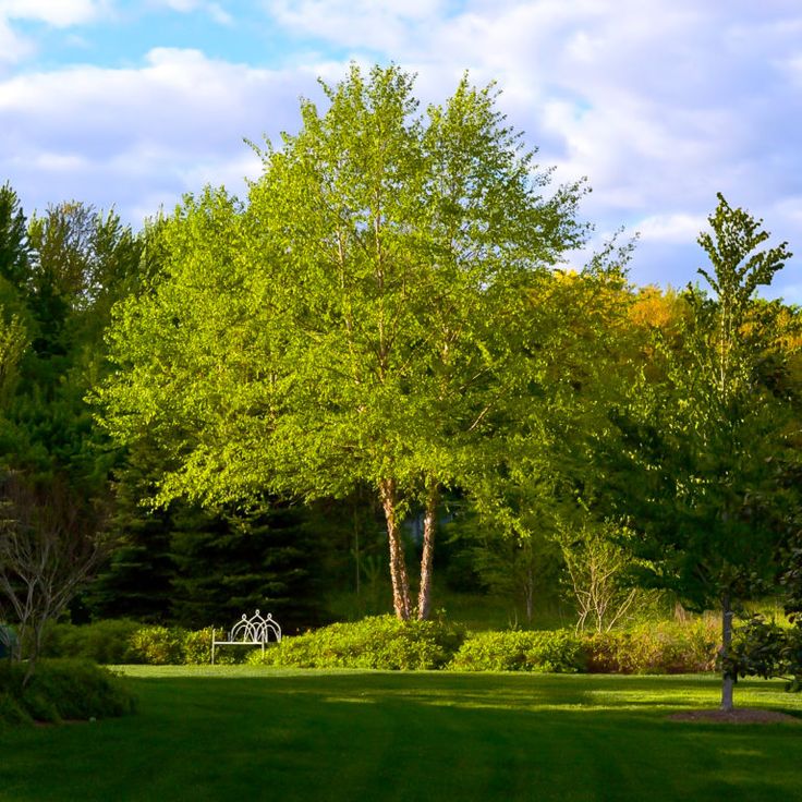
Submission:
[[585,635],[592,673],[697,673],[716,667],[718,624],[660,621],[623,632]]

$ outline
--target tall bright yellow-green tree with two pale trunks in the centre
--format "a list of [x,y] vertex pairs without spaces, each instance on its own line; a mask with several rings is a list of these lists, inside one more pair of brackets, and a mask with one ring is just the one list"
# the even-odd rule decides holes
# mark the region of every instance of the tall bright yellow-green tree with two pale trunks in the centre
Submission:
[[169,278],[110,335],[122,369],[102,414],[123,439],[147,421],[180,442],[162,500],[375,488],[401,619],[413,606],[400,524],[420,501],[425,618],[439,497],[525,384],[526,288],[582,241],[581,187],[543,196],[548,173],[493,87],[463,80],[425,117],[396,66],[352,66],[324,89],[325,113],[304,101],[300,133],[260,151],[243,215],[207,193],[168,227]]

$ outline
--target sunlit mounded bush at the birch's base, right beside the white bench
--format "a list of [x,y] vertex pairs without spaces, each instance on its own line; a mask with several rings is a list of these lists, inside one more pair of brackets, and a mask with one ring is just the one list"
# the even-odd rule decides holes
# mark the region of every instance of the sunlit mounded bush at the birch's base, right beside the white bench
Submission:
[[442,621],[399,621],[392,616],[335,623],[297,637],[284,637],[248,655],[250,663],[295,668],[442,668],[459,647],[461,628]]

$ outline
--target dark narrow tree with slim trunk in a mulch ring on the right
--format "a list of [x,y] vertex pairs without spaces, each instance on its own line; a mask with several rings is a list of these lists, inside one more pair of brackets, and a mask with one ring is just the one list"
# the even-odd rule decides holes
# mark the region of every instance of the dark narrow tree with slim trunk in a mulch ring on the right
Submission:
[[636,551],[649,564],[641,579],[692,607],[720,606],[729,710],[733,604],[765,590],[781,538],[775,465],[791,445],[792,404],[766,369],[781,369],[787,357],[783,316],[756,290],[790,253],[787,243],[758,251],[769,236],[762,221],[718,199],[712,231],[698,238],[710,260],[700,274],[713,295],[690,287],[681,339],[657,338],[658,369],[633,386],[618,420],[628,466],[611,475],[622,482],[628,521],[641,535]]

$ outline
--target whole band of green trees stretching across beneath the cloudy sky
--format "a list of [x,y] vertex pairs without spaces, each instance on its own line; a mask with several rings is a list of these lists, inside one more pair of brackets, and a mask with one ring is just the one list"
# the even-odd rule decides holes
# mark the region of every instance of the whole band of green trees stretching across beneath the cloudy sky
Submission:
[[[799,554],[799,312],[758,295],[787,243],[719,195],[704,287],[634,287],[631,243],[571,269],[584,182],[552,186],[493,85],[421,110],[413,84],[352,66],[252,144],[245,199],[207,187],[138,233],[78,203],[26,221],[0,191],[4,543],[68,507],[106,543],[96,609],[183,581],[191,619],[312,598],[331,510],[375,528],[372,497],[394,612],[426,618],[459,509],[488,575],[511,546],[531,591],[556,554],[584,622],[669,588],[719,607],[726,648]],[[168,555],[192,570],[159,585]]]

